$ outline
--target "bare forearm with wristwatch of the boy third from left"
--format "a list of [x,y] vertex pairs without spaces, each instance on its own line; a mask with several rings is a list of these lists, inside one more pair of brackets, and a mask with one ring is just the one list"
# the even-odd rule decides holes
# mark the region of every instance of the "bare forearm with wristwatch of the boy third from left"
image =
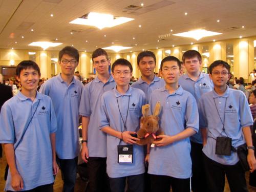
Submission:
[[[87,140],[89,121],[90,121],[90,117],[82,116],[82,140]],[[82,143],[81,157],[84,162],[86,163],[88,162],[89,151],[87,147],[87,142]]]

